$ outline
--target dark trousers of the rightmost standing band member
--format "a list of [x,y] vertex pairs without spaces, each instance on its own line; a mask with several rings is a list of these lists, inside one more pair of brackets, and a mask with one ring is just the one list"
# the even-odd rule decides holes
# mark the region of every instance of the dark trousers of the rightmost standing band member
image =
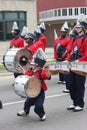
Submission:
[[70,96],[75,106],[84,107],[86,77],[70,72]]

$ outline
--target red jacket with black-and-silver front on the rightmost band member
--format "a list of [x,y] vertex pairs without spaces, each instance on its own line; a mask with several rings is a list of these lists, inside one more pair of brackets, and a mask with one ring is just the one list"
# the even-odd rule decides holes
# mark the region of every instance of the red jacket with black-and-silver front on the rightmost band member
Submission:
[[[68,46],[69,54],[67,59],[72,60],[71,56],[73,55],[73,60],[78,59],[81,62],[87,61],[87,38],[82,35],[78,36],[73,43]],[[74,59],[74,55],[77,55],[77,58]]]

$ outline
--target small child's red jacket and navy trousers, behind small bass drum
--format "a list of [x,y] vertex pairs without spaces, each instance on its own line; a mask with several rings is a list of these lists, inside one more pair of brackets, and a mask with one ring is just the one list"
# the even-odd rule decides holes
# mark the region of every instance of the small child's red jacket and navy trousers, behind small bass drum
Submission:
[[44,104],[44,100],[45,100],[45,92],[44,90],[47,90],[47,86],[46,86],[46,83],[44,82],[44,80],[46,79],[50,79],[50,78],[47,78],[46,76],[46,71],[45,70],[38,70],[36,72],[26,72],[25,75],[28,75],[28,76],[35,76],[37,77],[38,79],[41,80],[41,92],[40,94],[35,97],[35,98],[27,98],[26,101],[25,101],[25,104],[24,104],[24,111],[26,114],[29,114],[29,111],[30,111],[30,107],[35,105],[35,108],[34,108],[34,111],[35,113],[40,117],[42,118],[43,115],[45,114],[45,111],[44,111],[44,107],[43,107],[43,104]]

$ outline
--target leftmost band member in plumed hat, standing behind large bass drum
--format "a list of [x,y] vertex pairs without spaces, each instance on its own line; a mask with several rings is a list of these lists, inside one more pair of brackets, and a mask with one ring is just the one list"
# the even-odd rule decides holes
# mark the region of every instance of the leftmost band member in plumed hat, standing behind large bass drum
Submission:
[[[18,29],[18,25],[16,22],[13,23],[12,26],[12,40],[10,42],[10,48],[23,48],[24,47],[24,40],[20,37],[20,30]],[[19,73],[14,73],[14,77],[16,78]]]

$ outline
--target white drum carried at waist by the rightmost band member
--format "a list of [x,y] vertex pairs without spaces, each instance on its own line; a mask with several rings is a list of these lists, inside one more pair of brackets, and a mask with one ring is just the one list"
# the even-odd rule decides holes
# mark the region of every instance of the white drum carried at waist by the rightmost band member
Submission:
[[71,62],[71,71],[86,76],[87,75],[87,62]]

